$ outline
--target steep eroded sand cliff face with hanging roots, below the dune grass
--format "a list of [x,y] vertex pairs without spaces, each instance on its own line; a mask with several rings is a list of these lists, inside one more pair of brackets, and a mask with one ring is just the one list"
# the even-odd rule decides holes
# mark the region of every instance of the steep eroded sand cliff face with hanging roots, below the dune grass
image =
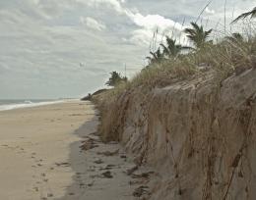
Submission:
[[140,87],[103,103],[103,138],[159,173],[151,199],[256,199],[256,70],[216,82]]

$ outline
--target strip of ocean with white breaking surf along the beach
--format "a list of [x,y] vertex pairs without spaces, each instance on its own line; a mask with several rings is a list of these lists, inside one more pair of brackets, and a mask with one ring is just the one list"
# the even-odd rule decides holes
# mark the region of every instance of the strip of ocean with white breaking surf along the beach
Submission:
[[48,104],[61,103],[64,100],[56,99],[0,99],[0,111],[13,110],[18,108],[28,108]]

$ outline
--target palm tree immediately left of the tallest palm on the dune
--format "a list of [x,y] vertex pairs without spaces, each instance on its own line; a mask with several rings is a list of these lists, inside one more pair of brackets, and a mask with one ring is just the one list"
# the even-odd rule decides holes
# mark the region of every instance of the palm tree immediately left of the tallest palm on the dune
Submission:
[[166,36],[166,46],[164,44],[160,44],[163,49],[163,55],[169,57],[176,57],[181,50],[184,48],[180,44],[176,44],[175,39],[171,39],[170,37]]

